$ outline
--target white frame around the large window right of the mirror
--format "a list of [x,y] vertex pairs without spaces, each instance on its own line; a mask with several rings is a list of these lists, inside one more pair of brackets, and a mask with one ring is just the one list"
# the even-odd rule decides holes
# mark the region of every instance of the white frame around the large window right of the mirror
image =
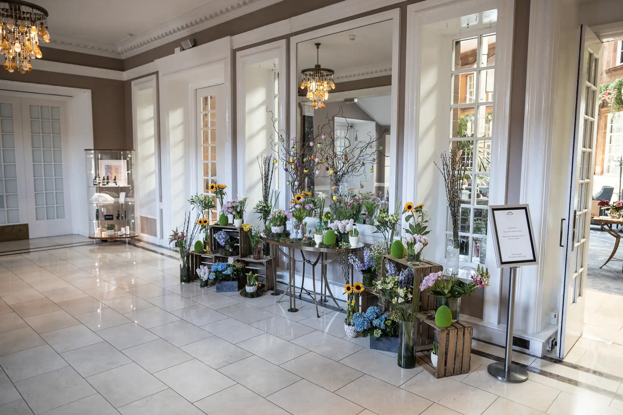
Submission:
[[[461,16],[468,16],[475,12],[482,12],[492,9],[498,11],[498,24],[495,28],[496,36],[496,74],[495,74],[495,105],[493,113],[498,117],[493,124],[492,136],[499,139],[495,148],[492,148],[491,169],[497,173],[490,179],[490,188],[494,191],[490,192],[489,204],[505,204],[506,202],[506,166],[508,156],[508,123],[510,108],[510,74],[511,74],[511,53],[513,47],[513,20],[514,20],[515,2],[512,0],[471,0],[471,1],[444,1],[429,0],[419,2],[407,6],[407,47],[406,47],[406,96],[405,96],[405,120],[404,120],[404,163],[403,163],[403,196],[405,200],[417,201],[419,203],[418,194],[421,193],[423,199],[426,194],[424,190],[418,189],[419,181],[428,181],[438,176],[432,169],[426,170],[426,166],[419,166],[419,153],[426,154],[430,151],[437,153],[437,148],[430,150],[430,141],[421,138],[422,131],[420,124],[428,125],[429,120],[420,120],[420,112],[422,102],[427,98],[427,91],[422,89],[422,79],[426,79],[424,65],[426,62],[422,60],[422,34],[426,24],[445,21]],[[465,36],[467,37],[467,35]],[[450,60],[450,56],[448,57]],[[449,73],[450,71],[448,71]],[[440,79],[446,80],[447,78]],[[445,81],[444,81],[445,82]],[[447,82],[449,90],[450,82]],[[445,97],[447,97],[446,95]],[[441,99],[441,98],[440,98]],[[447,105],[447,98],[444,103]],[[435,105],[438,105],[435,103]],[[442,108],[442,107],[439,107]],[[447,106],[445,107],[447,108]],[[441,109],[440,109],[441,110]],[[448,119],[450,113],[447,112],[447,118],[444,119],[444,137],[440,137],[440,143],[443,139],[442,150],[447,150],[447,131],[449,128]],[[443,117],[442,117],[443,118]],[[440,124],[441,125],[441,124]],[[435,145],[436,146],[436,145]],[[418,177],[419,171],[425,172],[424,176]],[[430,176],[429,176],[430,175]],[[423,182],[420,182],[420,184]],[[441,198],[441,197],[440,197]],[[445,195],[443,195],[445,203]],[[441,229],[436,229],[439,225]],[[445,221],[441,224],[433,225],[434,232],[445,232]],[[487,237],[487,245],[493,246],[490,241],[491,236]],[[434,247],[429,247],[434,250]],[[427,248],[427,249],[429,249]],[[431,260],[438,260],[439,254],[431,254],[431,250],[427,257]],[[445,252],[445,249],[444,249]],[[441,254],[443,255],[443,254]],[[439,262],[439,261],[435,261]],[[502,283],[500,280],[500,272],[495,265],[494,255],[488,255],[487,266],[491,272],[490,287],[485,290],[485,301],[483,305],[483,322],[497,324],[499,322],[500,307],[500,289]],[[477,319],[472,319],[477,320]]]

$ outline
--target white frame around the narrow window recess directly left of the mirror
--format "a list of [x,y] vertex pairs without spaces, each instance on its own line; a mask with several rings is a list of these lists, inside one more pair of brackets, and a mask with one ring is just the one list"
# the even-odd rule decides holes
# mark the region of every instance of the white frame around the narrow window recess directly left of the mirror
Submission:
[[[249,64],[255,64],[258,62],[264,62],[266,60],[277,59],[277,68],[275,72],[279,73],[279,92],[275,94],[275,97],[283,97],[283,92],[286,90],[285,74],[287,73],[287,54],[286,54],[286,41],[285,39],[276,42],[270,42],[269,44],[252,47],[249,49],[240,50],[236,52],[236,148],[237,148],[237,186],[239,193],[244,193],[246,186],[246,77],[245,66]],[[287,110],[287,102],[285,99],[279,99],[278,102],[278,125],[281,130],[287,128],[285,125],[285,112]],[[273,135],[273,140],[277,142],[278,136]],[[279,174],[279,168],[275,169],[273,179],[275,181],[275,189],[287,189],[285,184],[285,174]],[[278,207],[285,209],[286,198],[285,196],[279,196]]]

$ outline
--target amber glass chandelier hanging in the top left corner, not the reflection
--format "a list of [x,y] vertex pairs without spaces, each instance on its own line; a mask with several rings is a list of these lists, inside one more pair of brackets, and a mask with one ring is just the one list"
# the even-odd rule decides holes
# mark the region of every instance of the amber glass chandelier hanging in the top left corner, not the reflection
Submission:
[[32,70],[31,59],[42,57],[39,37],[50,41],[47,16],[47,11],[36,4],[0,1],[0,55],[4,55],[4,69],[19,70],[22,74]]

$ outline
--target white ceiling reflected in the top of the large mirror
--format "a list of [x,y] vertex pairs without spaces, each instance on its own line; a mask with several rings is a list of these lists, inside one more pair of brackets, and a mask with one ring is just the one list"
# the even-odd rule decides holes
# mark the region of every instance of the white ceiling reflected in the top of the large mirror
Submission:
[[[354,41],[349,40],[351,35],[355,36]],[[298,43],[299,74],[302,69],[316,64],[316,43],[321,44],[320,65],[323,68],[335,70],[336,82],[348,80],[339,79],[340,74],[356,74],[357,72],[375,72],[372,76],[391,74],[391,20]],[[358,71],[358,69],[361,70]]]

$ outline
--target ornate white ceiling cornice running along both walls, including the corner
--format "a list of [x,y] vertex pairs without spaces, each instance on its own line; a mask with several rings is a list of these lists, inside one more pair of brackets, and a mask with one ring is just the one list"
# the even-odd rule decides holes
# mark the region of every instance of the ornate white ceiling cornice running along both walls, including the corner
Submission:
[[[212,0],[152,29],[117,44],[97,42],[64,34],[55,34],[46,46],[87,54],[125,59],[159,45],[181,39],[235,17],[270,6],[282,0]],[[173,53],[173,50],[171,50]]]

